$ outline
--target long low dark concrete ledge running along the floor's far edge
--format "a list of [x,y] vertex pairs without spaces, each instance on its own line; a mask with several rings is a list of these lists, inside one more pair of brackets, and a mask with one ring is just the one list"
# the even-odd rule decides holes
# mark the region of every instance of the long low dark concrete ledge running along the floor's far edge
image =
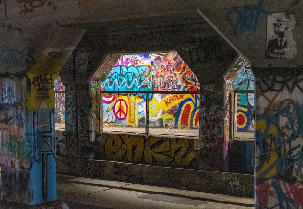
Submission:
[[254,176],[103,160],[57,157],[57,173],[254,198]]

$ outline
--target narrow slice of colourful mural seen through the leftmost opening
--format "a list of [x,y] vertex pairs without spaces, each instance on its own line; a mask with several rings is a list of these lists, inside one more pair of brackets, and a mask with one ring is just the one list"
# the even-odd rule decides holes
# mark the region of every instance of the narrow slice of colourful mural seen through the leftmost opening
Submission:
[[[65,122],[65,87],[61,82],[61,78],[55,79],[55,122],[64,123]],[[61,92],[58,92],[61,91]]]

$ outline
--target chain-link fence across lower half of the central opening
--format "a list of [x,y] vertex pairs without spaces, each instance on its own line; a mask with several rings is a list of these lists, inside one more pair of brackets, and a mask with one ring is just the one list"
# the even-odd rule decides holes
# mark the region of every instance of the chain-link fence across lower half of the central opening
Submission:
[[101,95],[102,132],[199,137],[197,91],[104,91]]

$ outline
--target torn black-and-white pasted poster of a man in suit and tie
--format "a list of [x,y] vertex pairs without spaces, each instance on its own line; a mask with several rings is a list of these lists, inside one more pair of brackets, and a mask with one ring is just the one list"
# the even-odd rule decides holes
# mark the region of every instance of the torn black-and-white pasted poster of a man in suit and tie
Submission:
[[266,59],[293,59],[297,53],[292,29],[295,15],[276,12],[267,15]]

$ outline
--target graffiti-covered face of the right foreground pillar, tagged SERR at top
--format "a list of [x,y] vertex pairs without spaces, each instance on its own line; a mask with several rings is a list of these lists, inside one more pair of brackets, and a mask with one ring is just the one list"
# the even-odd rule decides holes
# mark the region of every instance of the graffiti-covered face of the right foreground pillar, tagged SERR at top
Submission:
[[256,204],[302,208],[303,74],[301,69],[263,70],[256,71],[261,92],[256,98]]

